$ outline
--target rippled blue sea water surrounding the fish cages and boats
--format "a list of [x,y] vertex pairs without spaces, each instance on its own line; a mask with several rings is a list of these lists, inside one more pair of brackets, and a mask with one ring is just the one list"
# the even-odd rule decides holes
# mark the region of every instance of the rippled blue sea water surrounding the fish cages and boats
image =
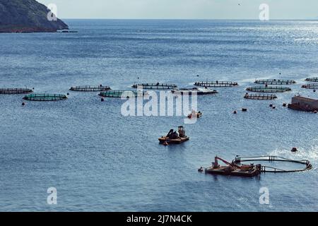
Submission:
[[[185,126],[191,140],[168,147],[158,137],[184,117],[123,117],[122,100],[100,102],[98,93],[25,107],[23,95],[0,95],[1,211],[318,210],[317,114],[282,107],[297,93],[317,98],[300,88],[318,76],[317,21],[66,22],[78,33],[1,34],[0,86],[36,93],[101,83],[128,89],[137,81],[240,86],[199,97],[204,117]],[[243,99],[255,78],[298,84],[275,101]],[[242,107],[248,112],[232,114]],[[299,153],[290,153],[294,146]],[[310,160],[314,169],[253,179],[198,173],[215,155],[279,155]],[[52,186],[56,206],[47,204]],[[270,205],[259,204],[261,187],[269,188]]]

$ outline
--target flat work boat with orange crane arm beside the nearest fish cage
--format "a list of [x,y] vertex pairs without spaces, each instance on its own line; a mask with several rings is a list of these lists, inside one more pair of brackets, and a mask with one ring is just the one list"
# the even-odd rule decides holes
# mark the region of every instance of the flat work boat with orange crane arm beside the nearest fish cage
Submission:
[[[218,160],[221,160],[226,165],[218,165]],[[212,162],[212,166],[205,169],[206,174],[220,174],[230,175],[238,177],[255,177],[261,174],[261,165],[236,165],[235,162],[227,162],[220,157],[215,158],[215,162]]]

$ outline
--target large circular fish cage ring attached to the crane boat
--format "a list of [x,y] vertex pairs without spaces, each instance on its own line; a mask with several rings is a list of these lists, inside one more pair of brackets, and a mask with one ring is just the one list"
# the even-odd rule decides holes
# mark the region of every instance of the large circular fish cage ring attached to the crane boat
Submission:
[[269,167],[261,165],[261,172],[273,172],[273,173],[282,173],[282,172],[304,172],[312,169],[312,165],[308,160],[290,160],[285,157],[278,156],[255,156],[255,157],[235,157],[233,160],[236,165],[244,165],[244,162],[290,162],[293,164],[303,165],[304,167],[298,169],[278,169],[276,167]]

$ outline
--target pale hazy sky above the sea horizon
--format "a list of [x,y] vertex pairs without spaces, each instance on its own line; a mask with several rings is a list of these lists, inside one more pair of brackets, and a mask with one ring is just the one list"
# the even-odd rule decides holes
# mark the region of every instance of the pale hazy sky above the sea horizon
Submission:
[[[270,19],[318,18],[318,0],[37,0],[56,4],[59,18]],[[240,5],[239,5],[240,4]]]

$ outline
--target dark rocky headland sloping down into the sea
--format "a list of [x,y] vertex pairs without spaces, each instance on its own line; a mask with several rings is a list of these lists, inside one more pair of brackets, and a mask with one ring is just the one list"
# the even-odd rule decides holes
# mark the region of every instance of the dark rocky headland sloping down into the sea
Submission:
[[35,0],[0,0],[0,32],[57,32],[69,29],[62,20],[47,19],[47,6]]

